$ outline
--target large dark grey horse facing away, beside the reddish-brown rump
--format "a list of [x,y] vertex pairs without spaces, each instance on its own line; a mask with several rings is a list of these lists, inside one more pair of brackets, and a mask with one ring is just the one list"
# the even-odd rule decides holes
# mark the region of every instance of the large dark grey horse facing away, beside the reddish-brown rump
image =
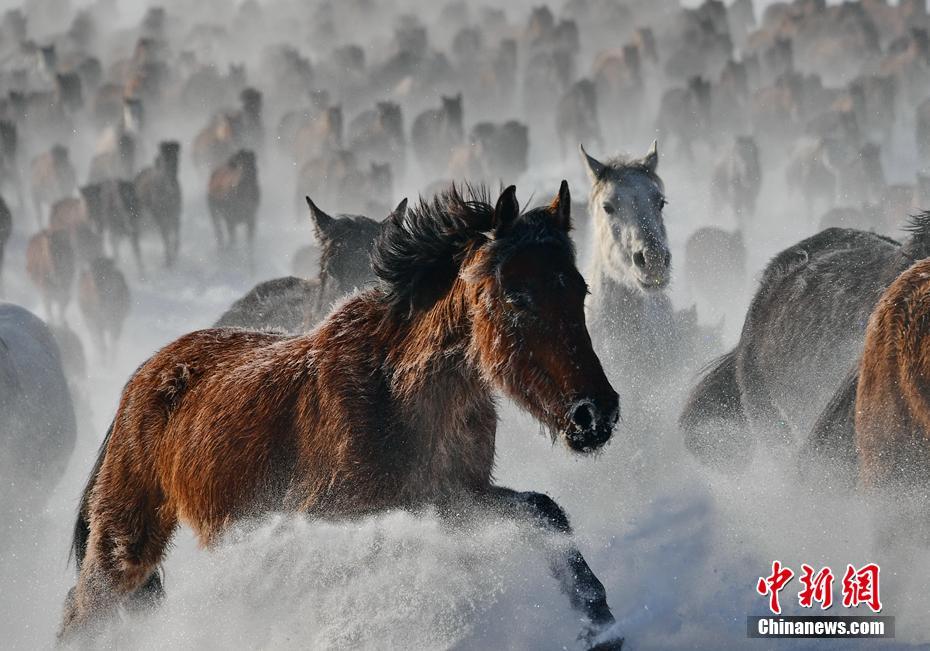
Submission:
[[855,463],[851,429],[841,423],[850,387],[855,401],[866,324],[885,288],[930,256],[930,217],[914,218],[908,231],[898,243],[828,228],[772,259],[739,343],[714,363],[682,411],[691,452],[736,470],[761,438],[775,449]]

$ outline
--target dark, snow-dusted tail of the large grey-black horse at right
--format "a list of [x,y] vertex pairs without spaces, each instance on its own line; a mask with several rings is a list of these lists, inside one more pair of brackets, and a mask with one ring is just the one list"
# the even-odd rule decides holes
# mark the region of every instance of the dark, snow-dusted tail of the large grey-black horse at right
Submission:
[[685,447],[720,470],[740,469],[752,452],[737,381],[738,352],[735,348],[710,365],[678,417]]

